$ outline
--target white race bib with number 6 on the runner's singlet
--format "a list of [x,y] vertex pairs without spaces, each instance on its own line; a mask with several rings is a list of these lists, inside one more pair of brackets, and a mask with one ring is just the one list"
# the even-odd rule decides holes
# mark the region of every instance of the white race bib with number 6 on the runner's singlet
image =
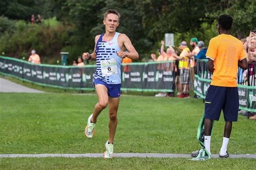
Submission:
[[116,59],[102,60],[100,61],[100,67],[102,68],[103,76],[110,76],[113,74],[117,74]]

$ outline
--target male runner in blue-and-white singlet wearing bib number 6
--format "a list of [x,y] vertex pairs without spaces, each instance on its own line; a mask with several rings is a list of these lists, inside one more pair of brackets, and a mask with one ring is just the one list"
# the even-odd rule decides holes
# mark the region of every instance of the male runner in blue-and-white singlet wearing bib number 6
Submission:
[[[131,40],[125,35],[116,32],[119,25],[120,14],[109,9],[104,14],[103,23],[105,34],[95,37],[95,49],[92,54],[83,53],[84,60],[96,60],[97,69],[93,84],[99,102],[89,116],[85,127],[85,136],[92,138],[97,117],[109,104],[109,140],[106,141],[104,158],[113,158],[114,134],[117,128],[117,110],[121,95],[121,63],[122,59],[129,57],[138,59],[139,54],[133,47]],[[127,51],[126,51],[127,50]],[[125,52],[126,51],[126,52]]]

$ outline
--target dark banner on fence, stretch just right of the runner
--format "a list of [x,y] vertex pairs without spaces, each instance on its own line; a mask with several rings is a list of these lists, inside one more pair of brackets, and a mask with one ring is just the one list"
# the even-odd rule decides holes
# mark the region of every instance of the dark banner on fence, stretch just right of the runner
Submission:
[[[137,91],[174,91],[173,61],[123,65],[122,88]],[[126,68],[129,67],[129,68]]]

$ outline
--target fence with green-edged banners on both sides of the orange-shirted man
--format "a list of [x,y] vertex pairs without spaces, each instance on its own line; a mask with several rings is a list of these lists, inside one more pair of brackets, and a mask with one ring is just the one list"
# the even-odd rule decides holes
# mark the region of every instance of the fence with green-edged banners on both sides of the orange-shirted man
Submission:
[[[208,71],[207,64],[207,60],[196,60],[194,93],[200,98],[205,98],[211,83],[212,73]],[[239,67],[237,74],[239,109],[250,112],[256,112],[255,66],[256,63],[248,63],[248,69]]]

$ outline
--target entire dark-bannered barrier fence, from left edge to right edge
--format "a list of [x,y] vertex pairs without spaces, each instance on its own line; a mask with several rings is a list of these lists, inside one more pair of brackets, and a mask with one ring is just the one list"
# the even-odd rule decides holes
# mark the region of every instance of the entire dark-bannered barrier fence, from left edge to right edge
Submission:
[[[248,63],[248,69],[238,69],[237,82],[239,109],[256,112],[256,63]],[[193,68],[192,68],[193,69]],[[205,98],[212,74],[207,60],[196,60],[194,93]],[[93,77],[96,65],[56,66],[35,65],[28,61],[0,56],[0,73],[20,80],[63,89],[94,90]],[[173,92],[178,73],[176,61],[140,62],[122,64],[122,90]]]

